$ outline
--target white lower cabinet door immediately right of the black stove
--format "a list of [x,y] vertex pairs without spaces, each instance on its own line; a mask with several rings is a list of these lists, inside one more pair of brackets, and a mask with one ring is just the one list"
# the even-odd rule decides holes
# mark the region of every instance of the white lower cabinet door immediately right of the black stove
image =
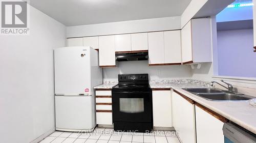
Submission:
[[152,91],[154,127],[172,127],[172,103],[170,96],[170,90]]

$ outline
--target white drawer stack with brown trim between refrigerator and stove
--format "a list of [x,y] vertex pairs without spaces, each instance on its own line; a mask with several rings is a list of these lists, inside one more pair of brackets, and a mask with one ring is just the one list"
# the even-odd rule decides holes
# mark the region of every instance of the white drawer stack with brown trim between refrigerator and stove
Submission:
[[111,90],[96,90],[96,124],[112,125]]

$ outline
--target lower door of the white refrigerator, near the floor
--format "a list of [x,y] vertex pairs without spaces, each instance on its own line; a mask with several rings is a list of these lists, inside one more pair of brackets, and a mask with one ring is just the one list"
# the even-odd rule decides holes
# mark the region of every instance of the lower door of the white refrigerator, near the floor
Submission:
[[96,124],[92,105],[93,96],[55,96],[56,128],[63,130],[90,130]]

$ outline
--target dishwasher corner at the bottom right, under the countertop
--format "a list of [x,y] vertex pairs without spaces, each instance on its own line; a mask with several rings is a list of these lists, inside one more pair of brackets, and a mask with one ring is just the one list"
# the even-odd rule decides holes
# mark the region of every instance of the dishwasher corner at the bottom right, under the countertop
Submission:
[[225,123],[223,126],[225,143],[255,143],[256,136],[236,124]]

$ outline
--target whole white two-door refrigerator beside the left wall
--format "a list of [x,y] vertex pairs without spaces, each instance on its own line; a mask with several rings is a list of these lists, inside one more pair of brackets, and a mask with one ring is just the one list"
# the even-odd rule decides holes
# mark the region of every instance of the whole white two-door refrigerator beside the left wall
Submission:
[[95,91],[102,84],[98,51],[91,47],[54,50],[56,130],[90,132],[96,126]]

